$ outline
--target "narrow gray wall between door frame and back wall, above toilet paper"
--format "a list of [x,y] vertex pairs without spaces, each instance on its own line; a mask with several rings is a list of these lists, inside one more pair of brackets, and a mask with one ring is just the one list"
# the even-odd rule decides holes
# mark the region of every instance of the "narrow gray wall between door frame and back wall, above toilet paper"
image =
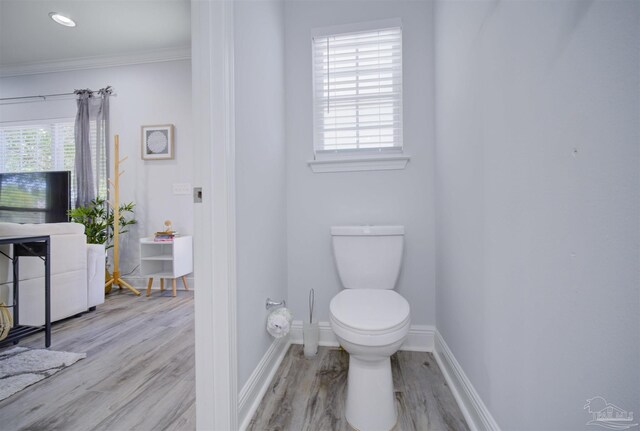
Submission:
[[287,296],[282,2],[235,2],[238,389],[273,338],[267,297]]

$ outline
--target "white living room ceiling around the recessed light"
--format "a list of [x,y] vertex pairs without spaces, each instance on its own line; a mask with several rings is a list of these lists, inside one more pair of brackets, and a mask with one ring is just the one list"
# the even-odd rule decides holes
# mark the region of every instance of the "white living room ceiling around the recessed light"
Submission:
[[0,67],[185,49],[190,13],[189,0],[0,0]]

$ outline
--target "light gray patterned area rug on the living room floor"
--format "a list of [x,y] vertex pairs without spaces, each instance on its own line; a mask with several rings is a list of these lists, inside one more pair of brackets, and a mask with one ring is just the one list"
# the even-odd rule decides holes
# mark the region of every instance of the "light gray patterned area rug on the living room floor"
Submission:
[[0,352],[0,401],[86,357],[86,353],[24,347]]

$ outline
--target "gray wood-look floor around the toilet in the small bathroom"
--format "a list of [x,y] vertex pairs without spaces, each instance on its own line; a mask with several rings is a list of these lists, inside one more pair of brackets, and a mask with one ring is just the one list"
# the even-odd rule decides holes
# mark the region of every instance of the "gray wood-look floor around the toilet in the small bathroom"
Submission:
[[[462,412],[431,353],[398,352],[391,357],[398,409],[395,431],[467,431]],[[320,347],[307,359],[292,345],[262,399],[248,430],[351,430],[344,418],[349,355]]]

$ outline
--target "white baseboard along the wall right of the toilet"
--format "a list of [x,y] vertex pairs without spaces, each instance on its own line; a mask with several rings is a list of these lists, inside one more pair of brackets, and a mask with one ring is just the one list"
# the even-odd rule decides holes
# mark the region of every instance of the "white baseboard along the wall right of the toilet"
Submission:
[[471,381],[453,356],[440,332],[435,332],[434,356],[471,431],[500,431],[500,427],[482,402]]

